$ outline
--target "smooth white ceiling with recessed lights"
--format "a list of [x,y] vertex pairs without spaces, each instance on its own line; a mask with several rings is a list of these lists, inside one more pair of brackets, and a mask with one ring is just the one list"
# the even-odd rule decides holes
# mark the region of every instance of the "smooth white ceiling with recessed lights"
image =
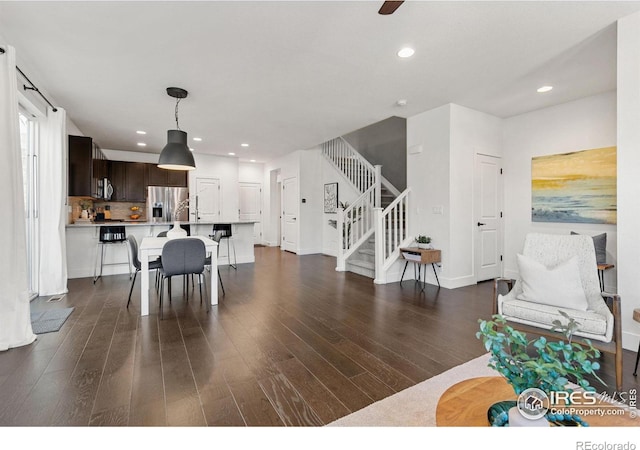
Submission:
[[[381,16],[381,4],[0,1],[0,36],[103,148],[160,153],[175,128],[165,89],[177,86],[189,91],[180,128],[197,152],[267,161],[450,102],[510,117],[615,89],[615,22],[640,10],[408,1]],[[402,60],[405,45],[416,53]],[[536,93],[543,84],[555,88]]]

